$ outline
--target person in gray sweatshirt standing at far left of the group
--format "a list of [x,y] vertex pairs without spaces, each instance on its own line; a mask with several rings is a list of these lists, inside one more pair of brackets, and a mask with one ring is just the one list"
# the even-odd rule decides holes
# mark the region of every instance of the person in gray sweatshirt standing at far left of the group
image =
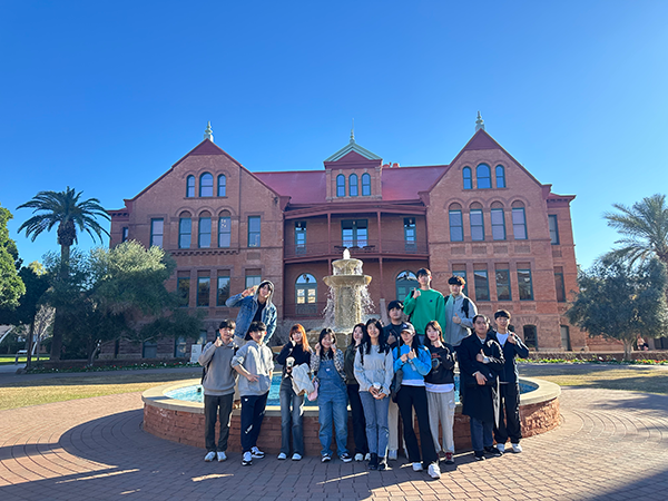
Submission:
[[[199,358],[197,358],[197,362],[199,362],[199,365],[205,371],[202,379],[202,386],[204,387],[204,441],[207,450],[204,460],[207,462],[215,459],[218,461],[227,459],[225,452],[227,451],[234,387],[237,380],[237,373],[230,365],[232,357],[237,351],[237,345],[232,340],[234,327],[234,321],[224,320],[220,322],[216,341],[207,343]],[[220,420],[220,433],[217,446],[216,418]]]

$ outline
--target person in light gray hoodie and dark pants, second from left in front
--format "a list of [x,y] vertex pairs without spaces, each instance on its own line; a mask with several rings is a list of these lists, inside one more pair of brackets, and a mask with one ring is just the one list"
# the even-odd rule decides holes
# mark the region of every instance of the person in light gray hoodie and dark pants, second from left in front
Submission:
[[272,350],[263,343],[267,326],[263,322],[253,322],[246,334],[246,344],[232,358],[232,366],[243,377],[239,379],[242,395],[242,464],[253,464],[253,458],[264,458],[257,449],[257,438],[264,420],[267,396],[272,386],[274,356]]

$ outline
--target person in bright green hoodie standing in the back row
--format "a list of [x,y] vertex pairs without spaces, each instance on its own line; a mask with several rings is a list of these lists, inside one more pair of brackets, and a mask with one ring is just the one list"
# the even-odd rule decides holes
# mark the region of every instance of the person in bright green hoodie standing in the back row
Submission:
[[418,338],[424,344],[426,324],[436,321],[445,328],[445,299],[443,294],[431,288],[431,272],[426,268],[418,269],[419,288],[411,291],[404,301],[404,313],[409,315],[411,324],[415,327]]

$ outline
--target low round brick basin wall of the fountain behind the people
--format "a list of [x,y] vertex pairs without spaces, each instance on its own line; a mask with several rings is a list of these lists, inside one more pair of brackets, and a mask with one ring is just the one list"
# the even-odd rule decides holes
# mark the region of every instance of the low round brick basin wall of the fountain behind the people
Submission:
[[[204,404],[166,395],[171,391],[198,383],[199,380],[185,380],[178,384],[165,384],[145,391],[141,395],[144,430],[160,439],[204,448]],[[521,379],[521,383],[534,387],[533,391],[520,395],[522,436],[544,433],[557,428],[560,423],[558,399],[561,393],[560,387],[548,381],[529,377]],[[307,455],[320,455],[318,430],[317,406],[305,406],[304,445]],[[348,430],[352,430],[352,420],[348,421]],[[229,451],[242,452],[239,436],[240,410],[235,410],[229,431]],[[353,448],[353,434],[348,433],[348,449]],[[458,451],[471,446],[469,416],[462,415],[460,404],[456,405],[454,415],[454,444]],[[278,405],[267,405],[257,445],[269,454],[279,452],[281,407]]]

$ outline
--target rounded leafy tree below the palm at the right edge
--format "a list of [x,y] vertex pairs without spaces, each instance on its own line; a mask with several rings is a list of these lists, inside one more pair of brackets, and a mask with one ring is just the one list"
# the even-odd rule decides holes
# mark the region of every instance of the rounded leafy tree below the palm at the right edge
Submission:
[[657,258],[633,268],[619,257],[605,257],[579,272],[580,292],[566,314],[590,336],[621,341],[629,360],[638,335],[659,337],[668,328],[667,283],[666,266]]

